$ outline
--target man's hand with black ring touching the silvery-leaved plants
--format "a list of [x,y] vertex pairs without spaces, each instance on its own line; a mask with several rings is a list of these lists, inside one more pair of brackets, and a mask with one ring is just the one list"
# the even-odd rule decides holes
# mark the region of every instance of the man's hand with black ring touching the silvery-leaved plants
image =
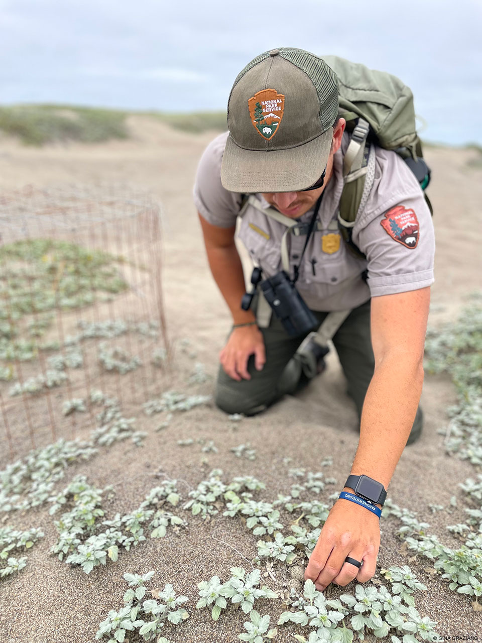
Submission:
[[[347,585],[354,578],[364,583],[375,574],[379,548],[378,516],[350,500],[337,500],[310,556],[305,580],[311,579],[320,591],[330,583]],[[346,563],[346,556],[363,561],[361,569]]]

